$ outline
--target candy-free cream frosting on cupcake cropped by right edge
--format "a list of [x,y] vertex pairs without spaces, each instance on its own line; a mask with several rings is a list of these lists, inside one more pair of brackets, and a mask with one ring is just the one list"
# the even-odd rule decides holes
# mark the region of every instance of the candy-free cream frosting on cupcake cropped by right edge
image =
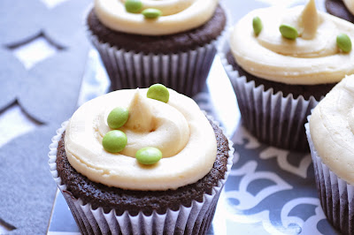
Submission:
[[312,111],[310,133],[322,161],[354,184],[354,75],[338,83]]

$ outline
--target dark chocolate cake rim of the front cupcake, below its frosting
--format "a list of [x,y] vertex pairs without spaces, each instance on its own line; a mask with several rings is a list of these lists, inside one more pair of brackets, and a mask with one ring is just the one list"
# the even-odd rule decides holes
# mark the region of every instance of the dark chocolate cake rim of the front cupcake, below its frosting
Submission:
[[115,209],[118,216],[126,210],[132,216],[136,216],[139,211],[151,215],[154,210],[158,214],[164,214],[168,208],[177,210],[181,205],[189,207],[192,201],[203,201],[204,193],[211,194],[212,188],[218,185],[219,179],[224,178],[227,171],[229,151],[227,138],[219,126],[212,122],[211,125],[218,148],[212,170],[194,184],[167,191],[123,190],[90,181],[75,171],[68,162],[65,154],[65,133],[63,133],[58,144],[56,163],[58,176],[67,186],[64,193],[76,199],[80,198],[85,204],[90,203],[94,209],[104,208],[105,213]]

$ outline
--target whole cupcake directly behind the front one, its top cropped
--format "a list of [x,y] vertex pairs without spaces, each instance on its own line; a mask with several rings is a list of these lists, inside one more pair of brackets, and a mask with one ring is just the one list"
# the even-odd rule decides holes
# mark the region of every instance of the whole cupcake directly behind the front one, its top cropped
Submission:
[[96,0],[87,24],[112,90],[161,83],[192,96],[204,88],[226,20],[218,0]]

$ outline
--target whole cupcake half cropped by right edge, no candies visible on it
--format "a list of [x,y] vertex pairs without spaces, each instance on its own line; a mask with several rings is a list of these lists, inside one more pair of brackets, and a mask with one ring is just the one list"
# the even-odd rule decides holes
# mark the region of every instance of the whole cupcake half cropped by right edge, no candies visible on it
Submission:
[[305,127],[323,211],[335,228],[353,234],[354,75],[319,102]]

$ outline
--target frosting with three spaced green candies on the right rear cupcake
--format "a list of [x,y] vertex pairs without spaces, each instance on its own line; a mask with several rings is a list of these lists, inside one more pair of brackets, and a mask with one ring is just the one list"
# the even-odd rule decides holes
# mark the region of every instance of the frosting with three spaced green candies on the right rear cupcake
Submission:
[[[341,35],[346,48],[338,45]],[[335,83],[354,73],[353,38],[350,22],[317,11],[310,0],[305,6],[289,9],[251,11],[235,25],[230,47],[237,64],[252,75],[287,84],[316,85]]]

